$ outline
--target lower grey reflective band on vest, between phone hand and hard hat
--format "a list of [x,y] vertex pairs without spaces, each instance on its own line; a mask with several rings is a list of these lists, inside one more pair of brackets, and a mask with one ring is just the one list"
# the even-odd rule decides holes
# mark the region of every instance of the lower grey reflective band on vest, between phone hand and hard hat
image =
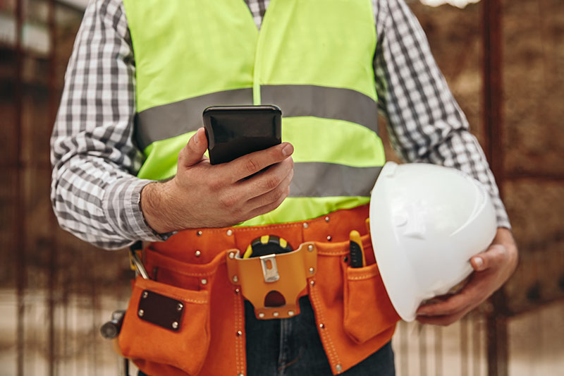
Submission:
[[380,171],[381,167],[296,162],[289,197],[369,197]]

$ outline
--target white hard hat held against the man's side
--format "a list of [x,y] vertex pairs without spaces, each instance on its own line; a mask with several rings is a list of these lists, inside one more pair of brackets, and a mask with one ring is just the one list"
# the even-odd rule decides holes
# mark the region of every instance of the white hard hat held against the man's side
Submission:
[[471,272],[496,234],[486,188],[434,164],[384,165],[370,201],[370,234],[388,296],[405,321]]

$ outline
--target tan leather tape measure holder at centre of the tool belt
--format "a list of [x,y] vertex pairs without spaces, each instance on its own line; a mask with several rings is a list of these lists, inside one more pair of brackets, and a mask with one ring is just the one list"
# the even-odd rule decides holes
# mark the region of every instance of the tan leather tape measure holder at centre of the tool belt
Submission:
[[[226,254],[228,277],[255,307],[258,319],[287,318],[300,313],[298,298],[317,272],[317,247],[302,243],[290,253],[243,259],[239,250]],[[276,302],[273,304],[272,302]]]

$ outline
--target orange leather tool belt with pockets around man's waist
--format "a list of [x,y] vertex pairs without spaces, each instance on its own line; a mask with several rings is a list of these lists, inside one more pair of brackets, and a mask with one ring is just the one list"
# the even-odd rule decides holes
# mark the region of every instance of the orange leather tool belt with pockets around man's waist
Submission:
[[[246,375],[244,299],[257,317],[271,319],[298,315],[297,299],[308,295],[333,375],[348,370],[390,341],[399,320],[374,261],[367,217],[364,205],[289,224],[190,229],[152,243],[145,249],[151,279],[133,284],[121,353],[148,375]],[[366,267],[348,265],[351,230],[362,235]],[[298,250],[235,257],[266,234]],[[267,281],[276,273],[278,281]],[[286,305],[262,307],[265,289],[280,291]]]

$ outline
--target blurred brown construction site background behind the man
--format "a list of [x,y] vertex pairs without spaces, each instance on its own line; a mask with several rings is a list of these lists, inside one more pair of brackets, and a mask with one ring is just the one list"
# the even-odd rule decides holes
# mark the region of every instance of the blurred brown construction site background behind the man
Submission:
[[[488,155],[520,266],[455,325],[400,323],[398,375],[564,375],[564,1],[408,2]],[[120,375],[99,327],[126,307],[128,255],[61,231],[49,202],[86,4],[0,0],[0,376]]]

